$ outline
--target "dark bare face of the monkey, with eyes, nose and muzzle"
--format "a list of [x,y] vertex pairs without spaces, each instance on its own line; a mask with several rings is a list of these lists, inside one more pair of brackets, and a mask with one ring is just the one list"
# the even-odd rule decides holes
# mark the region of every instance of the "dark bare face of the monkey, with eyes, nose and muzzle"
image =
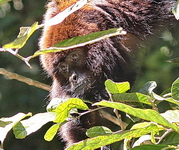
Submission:
[[56,84],[70,97],[83,98],[96,84],[96,77],[87,67],[86,60],[87,52],[75,49],[67,52],[55,66]]

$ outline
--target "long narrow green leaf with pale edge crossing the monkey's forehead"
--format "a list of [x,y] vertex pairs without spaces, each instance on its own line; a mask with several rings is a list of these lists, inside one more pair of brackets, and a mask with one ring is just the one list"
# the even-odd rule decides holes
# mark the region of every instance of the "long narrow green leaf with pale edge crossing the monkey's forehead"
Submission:
[[43,49],[43,50],[38,50],[34,53],[33,56],[30,56],[30,58],[37,57],[42,54],[46,53],[53,53],[53,52],[60,52],[68,49],[73,49],[81,46],[85,46],[88,44],[93,44],[96,43],[100,40],[116,36],[116,35],[124,35],[125,31],[123,31],[121,28],[119,29],[109,29],[106,31],[99,31],[95,33],[91,33],[85,36],[79,36],[79,37],[74,37],[68,40],[64,40],[58,44],[56,44],[54,47],[48,48],[48,49]]

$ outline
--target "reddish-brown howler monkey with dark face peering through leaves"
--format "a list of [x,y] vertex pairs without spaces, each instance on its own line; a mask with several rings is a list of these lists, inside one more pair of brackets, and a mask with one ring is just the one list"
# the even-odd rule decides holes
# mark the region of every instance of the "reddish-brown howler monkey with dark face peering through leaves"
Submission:
[[[78,0],[51,0],[44,22]],[[41,56],[47,73],[53,78],[52,98],[77,97],[91,102],[108,99],[104,82],[129,81],[136,76],[137,45],[173,18],[176,0],[90,0],[62,23],[45,26],[40,48],[96,31],[122,27],[127,35],[58,53]],[[99,112],[82,116],[64,124],[60,135],[67,146],[86,139],[86,130],[95,125],[108,126]]]

